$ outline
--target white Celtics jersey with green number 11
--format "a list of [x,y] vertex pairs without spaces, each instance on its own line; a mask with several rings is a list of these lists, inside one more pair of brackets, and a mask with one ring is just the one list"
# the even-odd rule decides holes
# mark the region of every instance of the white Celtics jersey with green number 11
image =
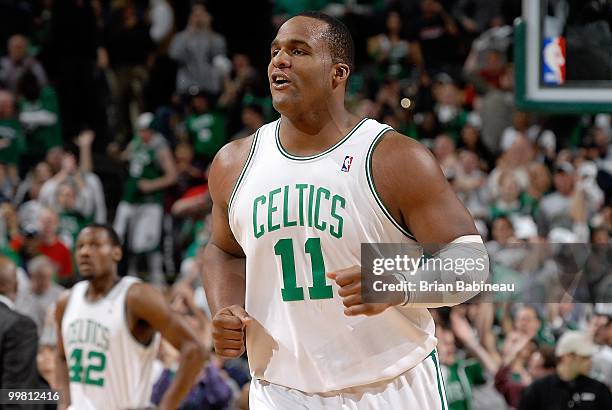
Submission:
[[253,377],[309,393],[395,377],[436,345],[424,308],[347,317],[325,277],[360,265],[362,243],[414,242],[372,184],[371,155],[388,125],[364,119],[332,148],[296,157],[280,120],[260,128],[229,202],[246,254]]

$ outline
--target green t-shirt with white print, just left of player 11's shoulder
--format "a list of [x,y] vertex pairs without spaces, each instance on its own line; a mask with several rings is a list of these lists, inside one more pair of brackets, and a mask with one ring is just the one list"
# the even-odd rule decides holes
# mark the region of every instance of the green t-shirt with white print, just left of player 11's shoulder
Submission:
[[185,126],[196,156],[210,161],[225,143],[225,118],[218,112],[190,115]]

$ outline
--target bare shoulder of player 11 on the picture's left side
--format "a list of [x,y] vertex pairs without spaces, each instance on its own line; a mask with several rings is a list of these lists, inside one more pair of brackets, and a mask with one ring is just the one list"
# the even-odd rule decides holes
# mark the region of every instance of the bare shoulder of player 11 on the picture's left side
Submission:
[[254,135],[226,144],[210,167],[208,185],[213,201],[227,205],[232,189],[244,167]]

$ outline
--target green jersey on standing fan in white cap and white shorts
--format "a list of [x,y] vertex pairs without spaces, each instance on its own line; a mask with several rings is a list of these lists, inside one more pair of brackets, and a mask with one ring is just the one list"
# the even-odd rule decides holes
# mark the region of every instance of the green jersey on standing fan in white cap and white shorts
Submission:
[[159,163],[159,153],[163,149],[169,149],[168,143],[160,134],[155,134],[148,144],[145,144],[139,136],[134,137],[129,149],[129,175],[123,185],[123,201],[143,204],[162,203],[163,191],[144,193],[138,188],[141,179],[157,179],[164,174]]

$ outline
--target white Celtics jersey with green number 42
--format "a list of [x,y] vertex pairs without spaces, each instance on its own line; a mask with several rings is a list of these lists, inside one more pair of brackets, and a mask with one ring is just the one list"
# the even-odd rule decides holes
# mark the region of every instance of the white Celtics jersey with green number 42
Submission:
[[143,346],[130,332],[126,295],[138,281],[124,277],[96,302],[85,299],[88,281],[72,288],[62,319],[72,409],[124,410],[149,405],[160,336],[156,334],[149,346]]

